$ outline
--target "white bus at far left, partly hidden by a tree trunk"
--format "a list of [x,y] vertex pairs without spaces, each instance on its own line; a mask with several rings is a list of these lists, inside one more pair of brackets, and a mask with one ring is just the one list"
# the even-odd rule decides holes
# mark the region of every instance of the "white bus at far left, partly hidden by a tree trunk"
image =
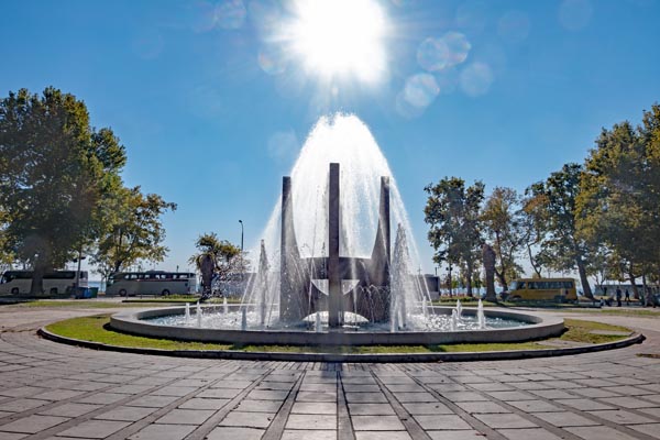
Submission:
[[[0,277],[0,295],[29,294],[32,271],[6,271]],[[44,274],[44,293],[66,294],[76,285],[76,271],[56,271]],[[88,287],[87,271],[80,271],[78,287]]]

